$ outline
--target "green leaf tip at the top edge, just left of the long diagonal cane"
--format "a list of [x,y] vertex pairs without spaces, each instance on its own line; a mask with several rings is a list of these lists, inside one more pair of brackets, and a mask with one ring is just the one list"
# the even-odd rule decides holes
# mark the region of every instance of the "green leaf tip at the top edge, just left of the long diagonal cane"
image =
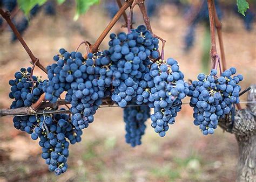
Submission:
[[99,4],[99,0],[76,0],[76,15],[74,20],[77,20],[80,15],[85,13],[90,8],[90,6],[96,3]]

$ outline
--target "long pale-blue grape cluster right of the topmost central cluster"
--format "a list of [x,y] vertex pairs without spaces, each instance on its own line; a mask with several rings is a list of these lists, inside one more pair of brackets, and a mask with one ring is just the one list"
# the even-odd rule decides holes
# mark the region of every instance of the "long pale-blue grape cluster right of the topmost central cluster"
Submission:
[[148,89],[150,94],[143,93],[143,96],[149,96],[149,107],[154,109],[151,126],[164,137],[169,130],[168,124],[175,122],[174,117],[181,110],[181,99],[189,92],[188,83],[184,82],[178,62],[172,58],[152,64],[150,76],[154,85]]

